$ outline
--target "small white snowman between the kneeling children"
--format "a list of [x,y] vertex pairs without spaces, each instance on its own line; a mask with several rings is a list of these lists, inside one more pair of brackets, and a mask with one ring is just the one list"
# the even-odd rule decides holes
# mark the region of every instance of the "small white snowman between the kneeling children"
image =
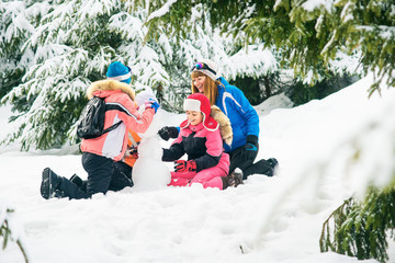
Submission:
[[[136,95],[136,103],[144,111],[144,102],[154,99],[151,91],[143,91]],[[169,168],[161,161],[162,148],[157,139],[157,133],[160,128],[160,111],[158,111],[149,125],[149,128],[144,134],[138,134],[142,138],[137,152],[138,159],[135,162],[132,171],[132,180],[134,188],[138,191],[158,190],[167,186],[170,183]]]

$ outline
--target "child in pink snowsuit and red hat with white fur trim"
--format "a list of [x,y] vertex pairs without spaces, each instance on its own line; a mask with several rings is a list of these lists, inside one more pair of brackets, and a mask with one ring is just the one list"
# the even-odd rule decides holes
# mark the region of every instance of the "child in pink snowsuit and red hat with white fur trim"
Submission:
[[[202,93],[187,98],[183,104],[187,119],[169,149],[163,149],[162,161],[174,161],[169,185],[185,186],[200,183],[204,188],[225,190],[242,183],[239,170],[229,176],[229,156],[224,152],[218,123],[210,115],[208,99]],[[184,153],[188,160],[179,160]]]

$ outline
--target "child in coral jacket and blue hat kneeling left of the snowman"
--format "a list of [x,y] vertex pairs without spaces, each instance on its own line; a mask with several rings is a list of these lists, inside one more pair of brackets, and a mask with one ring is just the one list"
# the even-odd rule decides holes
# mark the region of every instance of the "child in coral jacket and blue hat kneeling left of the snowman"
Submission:
[[[131,87],[131,69],[116,61],[110,65],[109,79],[93,82],[87,91],[88,99],[93,95],[104,98],[105,103],[114,108],[105,111],[104,128],[114,123],[122,123],[98,138],[82,139],[82,167],[88,173],[88,182],[83,187],[81,179],[74,175],[70,180],[57,175],[49,168],[42,174],[41,195],[52,197],[69,197],[75,199],[90,198],[93,194],[105,194],[109,190],[132,186],[132,181],[116,167],[124,157],[128,130],[144,133],[148,129],[159,104],[147,101],[146,110],[139,114],[135,105],[135,93]],[[121,178],[120,178],[121,176]],[[114,183],[114,181],[116,181]]]

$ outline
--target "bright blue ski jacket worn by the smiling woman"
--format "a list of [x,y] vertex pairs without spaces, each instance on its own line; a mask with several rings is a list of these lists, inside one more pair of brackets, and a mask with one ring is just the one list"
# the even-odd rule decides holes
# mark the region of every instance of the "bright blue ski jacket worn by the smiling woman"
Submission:
[[217,80],[222,85],[218,85],[218,98],[215,105],[230,121],[233,142],[230,147],[224,144],[224,148],[226,152],[232,152],[246,145],[247,135],[255,135],[259,138],[259,117],[241,90],[230,85],[223,77]]

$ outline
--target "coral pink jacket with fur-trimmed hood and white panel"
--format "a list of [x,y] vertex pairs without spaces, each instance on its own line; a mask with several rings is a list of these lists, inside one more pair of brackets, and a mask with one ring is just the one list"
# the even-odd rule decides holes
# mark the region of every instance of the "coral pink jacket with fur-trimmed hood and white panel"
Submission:
[[93,95],[105,98],[106,104],[120,105],[123,110],[105,112],[104,128],[122,121],[115,129],[93,139],[82,139],[81,151],[103,156],[120,161],[126,151],[128,129],[144,133],[153,122],[155,110],[146,108],[143,114],[137,112],[134,103],[134,91],[129,84],[116,80],[101,80],[93,82],[87,91],[88,99]]

